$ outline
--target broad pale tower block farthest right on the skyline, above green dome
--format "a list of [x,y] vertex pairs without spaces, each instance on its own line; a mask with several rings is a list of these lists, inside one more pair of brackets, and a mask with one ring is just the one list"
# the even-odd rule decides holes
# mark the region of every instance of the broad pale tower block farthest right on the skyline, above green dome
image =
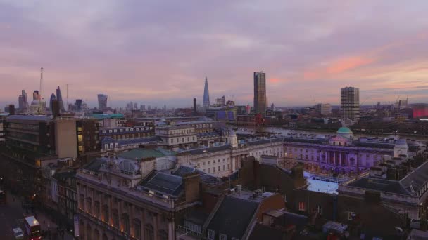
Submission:
[[341,118],[358,120],[360,118],[360,89],[353,87],[340,90]]

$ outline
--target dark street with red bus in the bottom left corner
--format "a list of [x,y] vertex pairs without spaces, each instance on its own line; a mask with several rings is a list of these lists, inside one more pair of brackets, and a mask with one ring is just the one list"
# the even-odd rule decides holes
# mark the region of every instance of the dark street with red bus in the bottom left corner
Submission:
[[21,205],[20,197],[14,196],[11,192],[7,192],[6,196],[6,205],[0,205],[0,239],[9,240],[15,239],[13,237],[12,229],[15,227],[20,227],[25,231],[23,225],[24,216],[37,215],[37,220],[39,221],[42,232],[50,231],[51,236],[47,236],[43,239],[65,239],[65,240],[73,240],[73,236],[70,236],[67,232],[65,232],[64,237],[62,238],[57,234],[57,225],[55,222],[50,220],[44,213],[36,211],[36,213],[32,213],[31,210],[28,210],[28,214],[26,214],[26,210]]

